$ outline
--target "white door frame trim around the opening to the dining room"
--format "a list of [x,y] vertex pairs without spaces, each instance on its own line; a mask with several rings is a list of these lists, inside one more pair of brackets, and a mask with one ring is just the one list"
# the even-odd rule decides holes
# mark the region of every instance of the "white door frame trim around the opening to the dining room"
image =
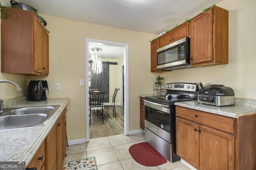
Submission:
[[[98,39],[89,39],[86,38],[86,46],[85,46],[85,85],[86,85],[86,95],[89,96],[89,43],[100,43],[103,45],[109,45],[113,47],[123,47],[124,48],[124,134],[129,135],[129,76],[128,76],[128,44],[127,43],[119,43],[113,41],[104,41]],[[122,89],[122,87],[121,87]],[[121,94],[121,93],[120,93]],[[120,98],[123,98],[123,95]],[[89,141],[89,101],[86,98],[86,142]]]

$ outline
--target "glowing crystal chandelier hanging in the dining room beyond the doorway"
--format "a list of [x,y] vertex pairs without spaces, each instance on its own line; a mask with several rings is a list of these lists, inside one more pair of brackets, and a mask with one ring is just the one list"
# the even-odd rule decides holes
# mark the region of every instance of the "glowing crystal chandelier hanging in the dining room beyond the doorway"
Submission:
[[96,74],[102,72],[101,48],[92,48],[92,71]]

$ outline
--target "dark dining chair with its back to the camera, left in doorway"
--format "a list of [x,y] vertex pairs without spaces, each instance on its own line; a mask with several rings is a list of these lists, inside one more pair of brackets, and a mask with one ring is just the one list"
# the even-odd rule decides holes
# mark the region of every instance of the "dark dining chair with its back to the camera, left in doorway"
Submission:
[[90,123],[91,124],[91,115],[92,115],[92,110],[96,110],[97,114],[100,113],[100,115],[102,116],[102,123],[103,119],[104,119],[104,106],[103,106],[103,99],[104,99],[104,94],[105,94],[106,90],[104,90],[104,92],[90,92],[89,91],[89,105],[90,105]]

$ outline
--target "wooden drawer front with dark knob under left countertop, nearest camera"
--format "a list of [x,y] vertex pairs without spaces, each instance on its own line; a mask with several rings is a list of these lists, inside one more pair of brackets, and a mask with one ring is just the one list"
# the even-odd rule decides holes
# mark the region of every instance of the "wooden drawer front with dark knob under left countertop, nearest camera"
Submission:
[[28,164],[27,168],[34,168],[36,167],[38,170],[44,170],[44,159],[45,159],[45,142],[41,144],[39,149],[37,150],[36,154]]

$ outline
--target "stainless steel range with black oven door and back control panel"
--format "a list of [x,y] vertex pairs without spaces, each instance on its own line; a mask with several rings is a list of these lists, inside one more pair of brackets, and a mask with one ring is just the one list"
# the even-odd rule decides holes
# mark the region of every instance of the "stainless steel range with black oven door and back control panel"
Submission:
[[[175,102],[197,100],[198,87],[191,83],[166,84],[166,96],[147,96],[145,105],[145,140],[168,161],[180,160],[176,155]],[[170,94],[177,94],[171,97]]]

